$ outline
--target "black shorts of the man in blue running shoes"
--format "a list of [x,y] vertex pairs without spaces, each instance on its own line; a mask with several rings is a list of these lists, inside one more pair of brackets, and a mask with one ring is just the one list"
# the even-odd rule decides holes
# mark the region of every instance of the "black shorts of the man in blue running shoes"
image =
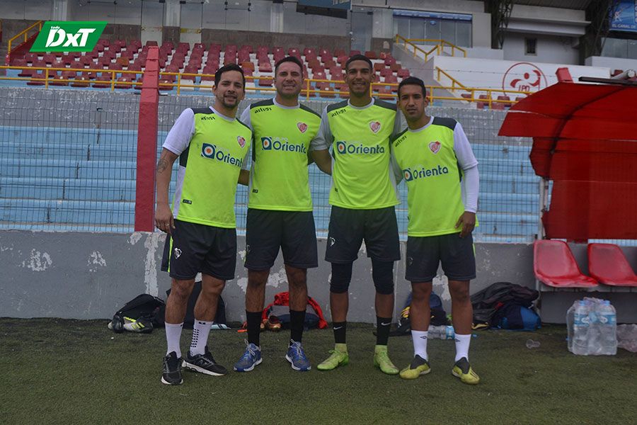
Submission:
[[283,262],[288,266],[319,266],[312,212],[248,208],[246,268],[254,271],[268,270],[274,265],[279,248],[283,253]]

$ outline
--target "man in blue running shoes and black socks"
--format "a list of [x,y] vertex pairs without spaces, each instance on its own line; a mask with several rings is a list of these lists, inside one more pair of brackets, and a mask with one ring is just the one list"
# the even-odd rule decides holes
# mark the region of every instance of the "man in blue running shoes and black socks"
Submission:
[[[241,121],[253,130],[252,169],[246,222],[246,351],[234,365],[249,372],[260,364],[260,324],[265,284],[281,249],[289,285],[290,337],[285,358],[292,369],[311,365],[302,346],[307,306],[307,269],[319,266],[309,189],[308,153],[321,118],[299,103],[303,64],[285,57],[275,64],[275,98],[251,104]],[[327,149],[312,151],[316,163],[331,172]]]

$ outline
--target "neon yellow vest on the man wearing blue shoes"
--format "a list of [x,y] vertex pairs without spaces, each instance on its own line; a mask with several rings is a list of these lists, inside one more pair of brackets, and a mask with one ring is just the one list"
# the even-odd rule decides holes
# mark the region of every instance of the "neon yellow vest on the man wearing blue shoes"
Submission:
[[280,108],[272,99],[250,106],[253,128],[249,208],[311,211],[307,155],[321,116],[301,105]]

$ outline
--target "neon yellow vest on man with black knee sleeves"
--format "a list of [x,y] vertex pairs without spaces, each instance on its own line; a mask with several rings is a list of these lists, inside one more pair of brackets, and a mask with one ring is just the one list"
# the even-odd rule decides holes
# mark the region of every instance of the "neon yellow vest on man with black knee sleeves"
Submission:
[[330,203],[343,208],[375,209],[398,205],[389,169],[389,137],[396,105],[376,100],[367,108],[348,101],[327,108],[333,140]]

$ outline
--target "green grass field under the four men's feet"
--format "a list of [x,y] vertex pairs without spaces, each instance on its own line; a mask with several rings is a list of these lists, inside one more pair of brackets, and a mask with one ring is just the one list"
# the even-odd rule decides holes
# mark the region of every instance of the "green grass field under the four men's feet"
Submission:
[[[636,424],[637,355],[574,356],[566,328],[481,331],[471,363],[481,384],[454,378],[453,341],[430,341],[432,372],[417,380],[372,366],[372,325],[348,326],[350,364],[295,372],[288,333],[261,338],[263,363],[251,373],[185,372],[183,385],[159,382],[163,329],[113,334],[103,320],[0,319],[1,424]],[[190,342],[184,331],[182,347]],[[212,331],[214,357],[231,368],[245,334]],[[540,341],[528,349],[525,341]],[[304,335],[313,365],[333,344],[330,330]],[[392,337],[399,367],[411,337]]]

